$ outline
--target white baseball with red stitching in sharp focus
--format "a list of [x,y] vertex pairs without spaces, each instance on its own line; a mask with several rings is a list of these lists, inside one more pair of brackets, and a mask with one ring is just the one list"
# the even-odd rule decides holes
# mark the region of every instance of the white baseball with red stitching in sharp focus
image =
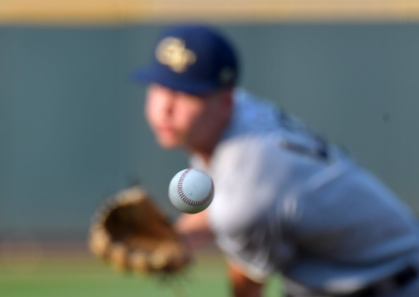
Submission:
[[178,172],[169,185],[169,199],[173,206],[184,213],[199,213],[207,208],[214,197],[211,177],[197,169]]

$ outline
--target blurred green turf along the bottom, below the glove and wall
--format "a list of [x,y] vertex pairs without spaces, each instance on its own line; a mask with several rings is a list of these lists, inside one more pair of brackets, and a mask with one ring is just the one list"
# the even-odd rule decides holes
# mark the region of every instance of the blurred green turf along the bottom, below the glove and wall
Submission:
[[[264,296],[281,296],[278,277],[269,280]],[[43,257],[0,261],[1,297],[220,297],[230,296],[225,263],[204,256],[177,282],[126,275],[95,259]]]

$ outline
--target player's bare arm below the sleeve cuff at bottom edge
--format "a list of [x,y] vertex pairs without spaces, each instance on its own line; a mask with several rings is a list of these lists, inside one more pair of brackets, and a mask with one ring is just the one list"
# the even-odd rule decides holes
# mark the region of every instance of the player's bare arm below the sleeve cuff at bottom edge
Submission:
[[229,277],[235,297],[260,297],[264,283],[248,278],[235,265],[229,264]]

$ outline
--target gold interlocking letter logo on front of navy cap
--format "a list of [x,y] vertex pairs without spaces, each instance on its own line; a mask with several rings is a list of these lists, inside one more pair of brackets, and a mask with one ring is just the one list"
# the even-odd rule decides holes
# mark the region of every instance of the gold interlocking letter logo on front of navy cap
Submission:
[[197,61],[195,53],[186,49],[185,42],[175,37],[167,37],[160,41],[155,55],[161,64],[167,65],[177,73],[185,72],[189,65]]

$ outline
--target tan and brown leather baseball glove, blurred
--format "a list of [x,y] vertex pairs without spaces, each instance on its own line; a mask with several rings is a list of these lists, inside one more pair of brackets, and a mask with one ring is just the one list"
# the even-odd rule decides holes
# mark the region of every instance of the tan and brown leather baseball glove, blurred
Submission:
[[189,262],[166,216],[142,187],[117,193],[93,218],[89,248],[122,271],[174,273]]

